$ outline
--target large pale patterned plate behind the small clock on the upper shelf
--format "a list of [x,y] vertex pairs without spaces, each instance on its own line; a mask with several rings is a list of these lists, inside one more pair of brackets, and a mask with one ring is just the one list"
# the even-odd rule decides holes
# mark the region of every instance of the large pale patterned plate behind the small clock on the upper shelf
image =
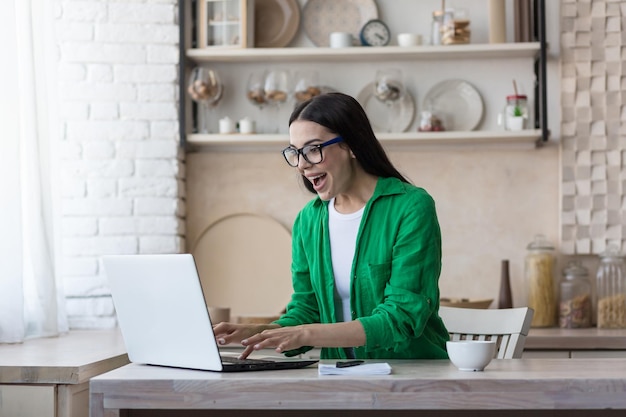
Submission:
[[376,18],[374,0],[308,0],[302,11],[304,31],[317,46],[329,46],[332,32],[350,32],[355,44],[360,45],[361,28]]

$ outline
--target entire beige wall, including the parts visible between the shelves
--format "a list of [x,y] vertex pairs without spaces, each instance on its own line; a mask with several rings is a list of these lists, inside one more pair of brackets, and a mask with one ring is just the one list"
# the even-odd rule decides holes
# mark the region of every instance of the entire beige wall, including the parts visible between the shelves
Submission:
[[[304,0],[300,1],[301,4]],[[487,2],[456,2],[471,8],[472,42],[487,42]],[[430,28],[428,6],[411,0],[378,2],[379,11],[397,31],[414,31],[427,35]],[[450,2],[454,7],[455,2]],[[551,142],[530,149],[485,149],[450,146],[425,149],[410,147],[389,149],[393,162],[416,185],[427,189],[435,198],[443,236],[443,271],[440,287],[443,296],[497,299],[500,261],[511,262],[511,279],[515,305],[525,304],[523,261],[526,246],[537,233],[545,234],[558,248],[560,222],[560,2],[548,2],[547,26],[550,43],[548,59],[548,107]],[[409,12],[407,12],[407,10]],[[424,12],[426,10],[426,12]],[[509,27],[512,32],[512,25]],[[509,40],[512,33],[509,34]],[[291,46],[311,46],[299,33]],[[510,61],[510,62],[509,62]],[[510,88],[509,79],[526,82],[532,65],[528,60],[500,60],[498,65],[485,61],[463,61],[463,79],[474,83],[485,100],[485,117],[479,129],[495,129],[497,112]],[[409,87],[421,103],[423,95],[435,82],[458,78],[458,63],[402,62],[409,77]],[[263,63],[259,63],[261,65]],[[356,95],[373,76],[375,66],[362,65],[350,71],[345,63],[324,63],[321,72],[324,85]],[[398,63],[387,63],[398,65]],[[309,66],[293,64],[292,69]],[[225,77],[231,77],[233,97],[243,97],[243,86],[234,80],[247,76],[254,67],[217,66]],[[239,71],[239,72],[238,72]],[[521,72],[521,73],[520,73]],[[502,74],[507,74],[502,77]],[[368,78],[369,77],[369,78]],[[532,77],[529,78],[532,80]],[[254,113],[249,106],[241,108],[224,102],[220,116],[251,116],[259,121],[268,113]],[[265,111],[265,110],[264,110]],[[283,113],[287,111],[284,109]],[[281,114],[280,119],[287,116]],[[269,117],[272,117],[271,115]],[[414,125],[410,128],[416,128]],[[285,127],[285,125],[283,125]],[[283,133],[286,133],[283,132]],[[296,173],[278,153],[279,149],[247,152],[199,151],[187,154],[187,249],[198,236],[219,218],[232,213],[256,213],[274,218],[290,229],[298,210],[313,196],[303,191]],[[558,269],[556,280],[560,278]],[[289,276],[287,271],[286,276]],[[288,278],[287,278],[288,279]],[[261,294],[264,296],[265,294]],[[243,296],[258,297],[254,292]]]

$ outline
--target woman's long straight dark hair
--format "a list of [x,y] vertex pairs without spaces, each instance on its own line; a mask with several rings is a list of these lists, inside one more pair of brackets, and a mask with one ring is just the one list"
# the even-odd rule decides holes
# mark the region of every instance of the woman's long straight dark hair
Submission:
[[[343,93],[315,96],[294,109],[289,117],[289,126],[296,120],[315,122],[337,133],[368,174],[377,177],[395,177],[403,182],[409,182],[387,157],[374,135],[365,110],[353,97]],[[302,182],[310,192],[316,194],[313,185],[304,176]]]

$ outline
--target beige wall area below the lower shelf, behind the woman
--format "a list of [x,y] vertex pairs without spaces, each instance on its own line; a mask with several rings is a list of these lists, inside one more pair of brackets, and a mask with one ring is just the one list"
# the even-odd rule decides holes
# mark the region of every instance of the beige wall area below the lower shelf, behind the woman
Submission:
[[[500,261],[510,259],[515,304],[523,304],[526,245],[535,233],[557,243],[558,147],[394,149],[389,154],[437,202],[442,295],[497,299]],[[190,153],[187,183],[188,248],[207,226],[231,213],[271,216],[290,229],[312,197],[278,152]]]

